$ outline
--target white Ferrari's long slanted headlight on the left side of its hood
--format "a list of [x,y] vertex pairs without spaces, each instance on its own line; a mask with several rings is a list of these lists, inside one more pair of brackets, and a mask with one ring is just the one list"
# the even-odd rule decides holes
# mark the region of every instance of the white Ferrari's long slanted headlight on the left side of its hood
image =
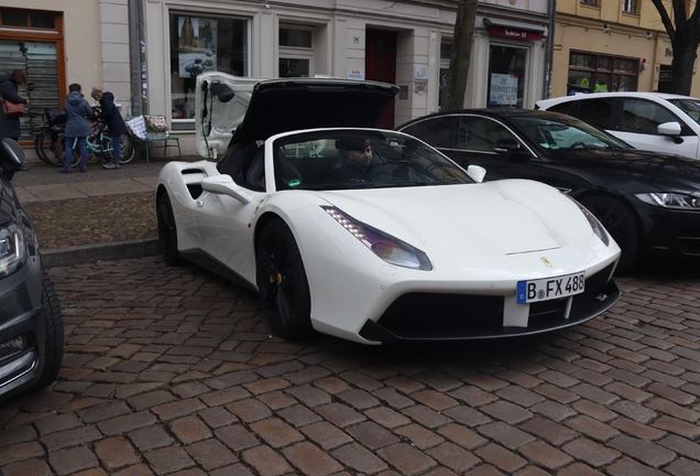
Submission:
[[422,271],[430,271],[433,269],[426,253],[418,248],[412,247],[376,228],[364,225],[351,216],[343,214],[338,208],[330,206],[321,206],[321,208],[353,237],[360,240],[362,245],[371,249],[374,255],[387,263]]

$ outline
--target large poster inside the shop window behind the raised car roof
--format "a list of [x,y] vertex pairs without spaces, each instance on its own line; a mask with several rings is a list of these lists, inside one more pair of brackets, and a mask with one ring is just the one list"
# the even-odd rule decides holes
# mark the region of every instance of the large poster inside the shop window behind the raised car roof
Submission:
[[210,18],[178,18],[178,75],[194,78],[217,69],[217,21]]

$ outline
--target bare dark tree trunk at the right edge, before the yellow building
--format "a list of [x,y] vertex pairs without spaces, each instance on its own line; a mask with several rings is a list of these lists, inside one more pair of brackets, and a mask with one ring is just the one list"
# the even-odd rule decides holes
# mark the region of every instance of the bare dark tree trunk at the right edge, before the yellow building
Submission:
[[652,0],[656,10],[661,15],[661,22],[671,42],[674,60],[671,73],[674,75],[674,93],[690,95],[692,86],[692,68],[698,57],[700,45],[700,2],[696,2],[692,14],[689,0],[671,0],[674,19],[669,15],[664,0]]

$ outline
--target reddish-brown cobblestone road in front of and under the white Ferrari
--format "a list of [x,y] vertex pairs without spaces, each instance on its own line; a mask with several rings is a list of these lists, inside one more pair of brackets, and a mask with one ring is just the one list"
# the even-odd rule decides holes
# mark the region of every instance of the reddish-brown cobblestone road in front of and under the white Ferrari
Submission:
[[584,325],[374,347],[271,335],[254,294],[158,258],[50,270],[58,381],[0,404],[14,475],[700,474],[700,280],[619,279]]

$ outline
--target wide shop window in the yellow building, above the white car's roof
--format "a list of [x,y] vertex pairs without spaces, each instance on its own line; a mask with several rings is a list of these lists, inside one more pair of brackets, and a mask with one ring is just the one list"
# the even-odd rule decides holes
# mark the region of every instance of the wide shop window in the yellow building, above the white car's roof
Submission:
[[638,60],[571,52],[567,94],[636,90],[638,71]]

